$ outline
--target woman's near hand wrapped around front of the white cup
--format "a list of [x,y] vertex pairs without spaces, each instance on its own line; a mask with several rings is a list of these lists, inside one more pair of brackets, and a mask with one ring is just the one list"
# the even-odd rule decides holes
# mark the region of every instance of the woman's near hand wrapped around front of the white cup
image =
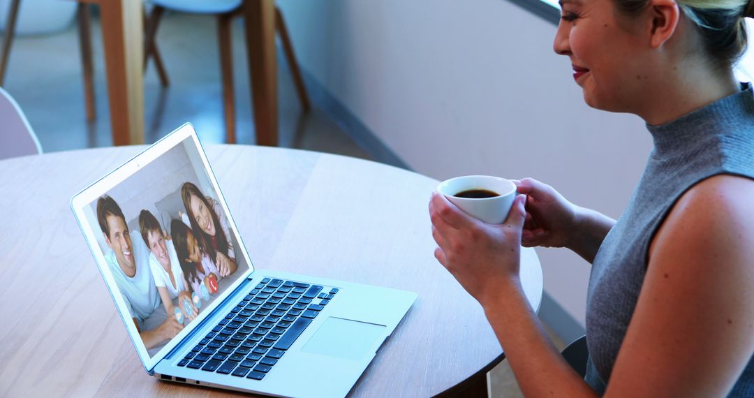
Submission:
[[516,197],[505,222],[492,225],[468,216],[443,194],[432,194],[434,256],[483,307],[495,301],[501,287],[520,284],[525,200],[524,195]]

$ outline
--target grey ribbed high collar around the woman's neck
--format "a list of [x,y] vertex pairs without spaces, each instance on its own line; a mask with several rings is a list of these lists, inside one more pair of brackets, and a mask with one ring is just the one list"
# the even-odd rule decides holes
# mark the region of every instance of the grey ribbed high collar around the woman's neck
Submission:
[[647,124],[654,140],[654,158],[682,155],[710,135],[725,133],[741,124],[741,115],[754,115],[752,84],[741,83],[741,90],[703,108],[657,126]]

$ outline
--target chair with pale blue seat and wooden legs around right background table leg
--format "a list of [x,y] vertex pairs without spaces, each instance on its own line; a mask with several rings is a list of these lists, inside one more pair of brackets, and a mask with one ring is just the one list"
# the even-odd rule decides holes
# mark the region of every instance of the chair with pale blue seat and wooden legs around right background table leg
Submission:
[[[166,10],[178,11],[187,14],[205,14],[216,15],[217,17],[217,34],[220,47],[220,70],[222,75],[222,103],[225,112],[225,133],[226,141],[234,143],[235,139],[235,99],[233,90],[233,60],[231,54],[231,20],[240,14],[243,0],[152,0],[152,14],[146,23],[146,44],[144,63],[150,58],[155,59],[155,63],[161,61],[155,54],[155,36],[159,27],[160,20]],[[296,56],[293,54],[293,45],[288,35],[288,30],[283,20],[283,14],[279,8],[275,8],[275,29],[280,34],[280,41],[283,44],[283,50],[290,65],[293,74],[293,82],[296,85],[296,91],[299,94],[304,112],[311,109],[309,98],[304,86],[304,80],[296,62]],[[167,75],[161,78],[163,85],[167,86]]]

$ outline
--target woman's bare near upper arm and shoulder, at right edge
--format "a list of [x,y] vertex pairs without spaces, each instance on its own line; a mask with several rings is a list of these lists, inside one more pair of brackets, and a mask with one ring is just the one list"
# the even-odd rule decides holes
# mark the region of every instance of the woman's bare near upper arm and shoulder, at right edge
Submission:
[[667,216],[607,395],[731,390],[754,355],[752,197],[752,180],[715,176],[691,188]]

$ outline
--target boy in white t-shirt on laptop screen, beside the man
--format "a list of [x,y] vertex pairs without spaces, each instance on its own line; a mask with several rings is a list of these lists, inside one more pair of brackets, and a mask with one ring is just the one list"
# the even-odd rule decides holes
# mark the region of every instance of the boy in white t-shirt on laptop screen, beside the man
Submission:
[[[149,210],[139,213],[139,231],[146,246],[149,247],[149,269],[155,277],[155,286],[162,299],[167,314],[173,314],[173,298],[178,298],[179,309],[186,320],[193,320],[197,309],[191,301],[189,283],[183,277],[183,271],[176,256],[176,250],[170,240],[165,239],[160,223]],[[183,300],[192,302],[190,312],[180,305]],[[187,322],[188,323],[188,322]]]

